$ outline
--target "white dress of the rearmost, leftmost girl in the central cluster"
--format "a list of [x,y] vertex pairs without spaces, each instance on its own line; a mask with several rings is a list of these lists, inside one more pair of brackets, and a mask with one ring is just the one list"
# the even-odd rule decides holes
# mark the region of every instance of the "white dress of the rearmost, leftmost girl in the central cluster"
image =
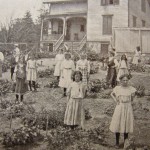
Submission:
[[57,54],[55,57],[54,76],[60,76],[61,63],[64,60],[64,54]]

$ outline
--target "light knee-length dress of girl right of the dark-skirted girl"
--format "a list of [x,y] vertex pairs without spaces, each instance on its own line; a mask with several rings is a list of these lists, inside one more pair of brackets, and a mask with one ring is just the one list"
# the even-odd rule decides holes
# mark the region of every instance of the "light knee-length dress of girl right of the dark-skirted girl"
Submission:
[[36,60],[28,60],[26,70],[27,70],[27,80],[28,81],[36,81],[36,79],[37,79]]

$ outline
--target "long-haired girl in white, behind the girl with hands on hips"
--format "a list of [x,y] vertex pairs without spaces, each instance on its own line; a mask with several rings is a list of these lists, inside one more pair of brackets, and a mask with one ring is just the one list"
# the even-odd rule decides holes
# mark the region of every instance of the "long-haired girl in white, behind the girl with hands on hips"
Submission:
[[121,56],[121,60],[120,60],[118,68],[119,68],[119,71],[117,75],[117,81],[119,82],[120,76],[124,74],[129,74],[129,64],[128,64],[128,60],[125,54]]

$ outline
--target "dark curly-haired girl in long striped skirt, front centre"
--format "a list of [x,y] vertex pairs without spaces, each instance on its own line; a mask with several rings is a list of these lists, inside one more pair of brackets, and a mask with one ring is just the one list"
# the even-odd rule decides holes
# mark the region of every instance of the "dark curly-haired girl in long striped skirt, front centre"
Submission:
[[74,129],[77,126],[83,128],[84,125],[84,109],[82,100],[84,98],[84,86],[82,83],[82,74],[75,71],[73,81],[67,89],[67,108],[65,112],[64,124]]

